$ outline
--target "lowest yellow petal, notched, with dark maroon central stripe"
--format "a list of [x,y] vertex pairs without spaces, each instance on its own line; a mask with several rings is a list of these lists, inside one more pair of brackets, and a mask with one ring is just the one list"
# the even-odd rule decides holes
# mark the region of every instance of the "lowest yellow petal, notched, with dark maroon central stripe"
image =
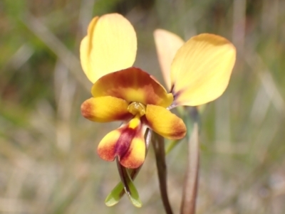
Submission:
[[113,161],[118,156],[120,164],[126,168],[138,168],[145,161],[145,140],[140,117],[108,133],[98,145],[98,155],[105,161]]

